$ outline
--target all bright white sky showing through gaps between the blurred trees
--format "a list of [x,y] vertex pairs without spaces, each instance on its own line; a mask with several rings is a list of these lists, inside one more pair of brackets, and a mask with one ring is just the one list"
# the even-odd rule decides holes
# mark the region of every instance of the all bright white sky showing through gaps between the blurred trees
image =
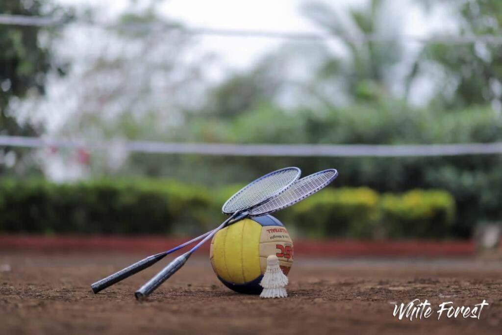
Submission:
[[[106,22],[113,21],[127,9],[145,8],[150,1],[137,0],[56,0],[64,5],[75,6],[77,8],[91,7],[97,15],[97,20]],[[332,4],[331,7],[337,11],[344,11],[346,7],[364,6],[368,0],[336,0],[324,1]],[[212,29],[235,29],[253,31],[274,31],[274,32],[312,32],[325,33],[315,24],[307,19],[302,13],[302,4],[306,0],[159,0],[159,13],[167,19],[178,21],[187,27],[205,27]],[[392,27],[403,27],[405,36],[427,37],[432,32],[442,34],[454,33],[455,20],[447,12],[445,7],[436,5],[434,12],[425,13],[423,8],[418,7],[413,0],[389,0],[385,3],[389,18],[393,20],[389,25]],[[397,23],[397,25],[396,25]],[[81,48],[87,49],[87,43],[79,43],[79,40],[86,40],[86,33],[81,31],[75,33],[77,36],[71,38],[72,45],[63,47],[70,53]],[[84,36],[78,36],[82,35]],[[87,39],[88,41],[88,39]],[[254,64],[267,52],[277,50],[284,45],[284,40],[267,39],[258,37],[228,37],[204,35],[194,39],[192,55],[197,58],[197,54],[211,53],[216,55],[215,61],[205,67],[206,79],[217,82],[235,70],[245,69]],[[75,45],[76,44],[76,45]],[[336,42],[329,43],[330,50],[343,55]],[[414,55],[420,50],[420,44],[411,41],[406,44],[405,62],[397,67],[399,73],[407,73],[407,69]],[[83,54],[77,52],[77,54]],[[410,60],[407,62],[406,60]],[[309,71],[309,68],[305,68]],[[428,97],[433,94],[434,87],[430,85],[429,78],[418,78],[413,87],[411,103],[424,104]],[[302,80],[301,78],[299,79]],[[396,93],[401,94],[403,87],[396,82],[394,88]]]

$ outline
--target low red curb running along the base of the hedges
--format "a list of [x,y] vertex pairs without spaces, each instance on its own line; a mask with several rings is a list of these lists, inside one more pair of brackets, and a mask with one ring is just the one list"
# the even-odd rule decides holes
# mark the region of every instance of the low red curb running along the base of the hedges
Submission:
[[[36,252],[145,252],[158,253],[187,241],[173,237],[27,236],[0,235],[2,251]],[[295,253],[307,257],[465,257],[475,252],[473,241],[356,241],[297,240]],[[209,243],[201,247],[209,252]]]

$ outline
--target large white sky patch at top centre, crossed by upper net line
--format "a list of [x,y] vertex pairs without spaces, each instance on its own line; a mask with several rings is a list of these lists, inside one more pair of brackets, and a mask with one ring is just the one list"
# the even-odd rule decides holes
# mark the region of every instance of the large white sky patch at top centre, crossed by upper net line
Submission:
[[[163,13],[188,26],[264,31],[312,31],[316,27],[301,16],[298,0],[194,1],[172,0]],[[216,51],[228,64],[243,67],[284,41],[266,38],[206,36],[203,47]]]

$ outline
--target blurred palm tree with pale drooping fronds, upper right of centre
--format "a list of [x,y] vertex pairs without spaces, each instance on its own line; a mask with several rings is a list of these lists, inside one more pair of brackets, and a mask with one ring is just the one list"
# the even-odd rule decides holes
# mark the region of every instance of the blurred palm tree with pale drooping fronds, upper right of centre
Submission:
[[[304,12],[314,23],[336,36],[346,57],[326,59],[318,69],[318,80],[334,82],[341,78],[349,97],[373,100],[389,96],[396,77],[394,67],[402,59],[403,46],[396,27],[390,20],[385,0],[371,0],[368,6],[348,9],[347,15],[324,3],[308,3]],[[368,39],[364,35],[385,38]]]

